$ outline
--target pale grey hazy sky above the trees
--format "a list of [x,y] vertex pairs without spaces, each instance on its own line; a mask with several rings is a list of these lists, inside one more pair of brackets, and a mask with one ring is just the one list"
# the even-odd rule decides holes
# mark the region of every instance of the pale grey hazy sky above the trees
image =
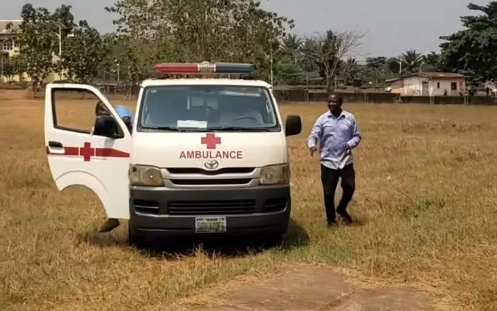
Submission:
[[[192,0],[195,1],[195,0]],[[438,52],[439,37],[462,29],[461,15],[474,15],[467,9],[471,0],[260,0],[266,10],[295,20],[291,30],[313,35],[326,30],[367,32],[355,57],[395,57],[405,50]],[[485,6],[488,0],[472,0]],[[21,1],[1,0],[0,19],[20,19]],[[75,19],[86,19],[100,32],[112,32],[113,15],[104,7],[115,0],[31,0],[35,7],[49,10],[68,4]]]

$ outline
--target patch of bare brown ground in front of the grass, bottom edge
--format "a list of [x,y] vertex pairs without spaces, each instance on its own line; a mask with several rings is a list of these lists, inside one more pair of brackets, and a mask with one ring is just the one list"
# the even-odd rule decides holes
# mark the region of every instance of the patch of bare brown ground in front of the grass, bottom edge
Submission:
[[273,275],[240,277],[174,305],[174,310],[456,310],[427,284],[367,277],[328,265],[287,265]]

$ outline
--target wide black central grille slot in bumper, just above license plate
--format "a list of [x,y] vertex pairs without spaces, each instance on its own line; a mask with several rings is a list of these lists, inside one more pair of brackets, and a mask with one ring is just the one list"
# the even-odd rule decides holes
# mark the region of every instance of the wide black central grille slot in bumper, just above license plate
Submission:
[[169,201],[170,215],[239,215],[253,214],[255,200]]

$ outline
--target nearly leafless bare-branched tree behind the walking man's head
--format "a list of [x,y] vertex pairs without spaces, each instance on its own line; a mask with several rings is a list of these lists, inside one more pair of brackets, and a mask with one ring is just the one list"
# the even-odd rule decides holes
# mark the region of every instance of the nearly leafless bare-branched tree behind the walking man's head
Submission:
[[306,57],[318,65],[327,88],[330,88],[331,82],[336,77],[342,59],[351,55],[360,46],[360,39],[364,35],[355,31],[328,30],[326,34],[313,38],[315,42],[312,44],[313,50],[306,51]]

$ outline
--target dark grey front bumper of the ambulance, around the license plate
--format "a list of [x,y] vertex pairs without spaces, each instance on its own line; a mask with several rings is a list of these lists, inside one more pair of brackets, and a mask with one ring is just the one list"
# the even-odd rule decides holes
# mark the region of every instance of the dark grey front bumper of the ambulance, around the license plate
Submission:
[[226,234],[284,233],[289,185],[232,189],[130,188],[130,225],[139,234],[191,236],[195,217],[226,216]]

